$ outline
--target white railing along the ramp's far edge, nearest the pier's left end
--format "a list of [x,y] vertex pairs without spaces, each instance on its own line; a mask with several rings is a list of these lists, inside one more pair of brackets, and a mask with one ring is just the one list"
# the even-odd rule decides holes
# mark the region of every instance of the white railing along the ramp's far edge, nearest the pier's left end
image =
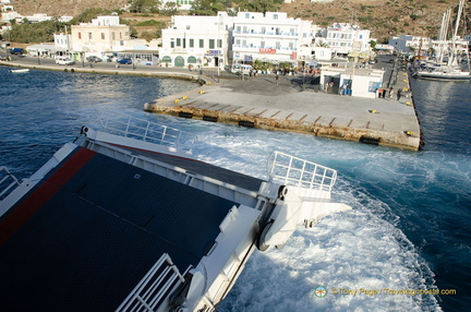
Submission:
[[104,113],[100,124],[111,134],[172,146],[181,151],[192,152],[196,143],[196,135],[193,133],[113,111]]

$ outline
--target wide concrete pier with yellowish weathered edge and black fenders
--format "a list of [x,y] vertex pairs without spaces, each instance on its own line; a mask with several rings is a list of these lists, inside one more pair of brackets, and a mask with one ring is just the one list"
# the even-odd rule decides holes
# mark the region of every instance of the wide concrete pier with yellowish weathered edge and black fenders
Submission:
[[[409,87],[401,74],[397,87]],[[146,103],[150,112],[294,131],[409,149],[420,148],[420,125],[412,98],[391,100],[301,91],[298,76],[257,75],[220,80],[196,89]]]

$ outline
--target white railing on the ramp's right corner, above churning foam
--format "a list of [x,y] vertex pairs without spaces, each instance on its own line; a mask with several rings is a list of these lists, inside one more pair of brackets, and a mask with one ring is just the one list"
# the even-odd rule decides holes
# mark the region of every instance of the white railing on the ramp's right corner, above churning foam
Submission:
[[280,152],[269,156],[267,172],[271,182],[322,191],[331,191],[337,179],[334,169]]

